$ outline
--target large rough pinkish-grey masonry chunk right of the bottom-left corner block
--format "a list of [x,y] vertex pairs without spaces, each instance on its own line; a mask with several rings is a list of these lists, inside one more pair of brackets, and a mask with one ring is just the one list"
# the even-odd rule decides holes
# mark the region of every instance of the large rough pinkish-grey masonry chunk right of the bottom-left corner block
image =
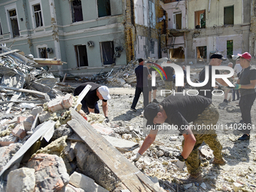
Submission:
[[35,191],[59,191],[69,183],[69,174],[61,157],[36,154],[27,166],[35,169]]

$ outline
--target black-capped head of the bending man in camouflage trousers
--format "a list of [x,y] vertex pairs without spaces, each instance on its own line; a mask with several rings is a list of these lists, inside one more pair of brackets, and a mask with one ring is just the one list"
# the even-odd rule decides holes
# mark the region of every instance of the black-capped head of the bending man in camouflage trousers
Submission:
[[147,119],[147,126],[164,123],[167,116],[162,105],[151,102],[145,107],[144,117]]

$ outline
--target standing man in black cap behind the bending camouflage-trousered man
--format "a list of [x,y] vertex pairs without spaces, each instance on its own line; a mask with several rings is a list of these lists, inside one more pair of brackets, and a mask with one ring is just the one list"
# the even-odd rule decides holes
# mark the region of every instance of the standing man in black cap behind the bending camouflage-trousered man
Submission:
[[[212,56],[210,57],[210,62],[209,62],[209,81],[208,83],[203,86],[203,87],[198,87],[198,92],[200,96],[205,96],[209,99],[212,99],[212,90],[214,87],[212,87],[212,66],[221,66],[221,62],[225,61],[226,58],[223,57],[223,55],[221,53],[214,53],[212,54]],[[218,70],[215,71],[215,74],[220,74],[220,72]],[[206,78],[206,70],[205,68],[200,72],[199,75],[199,81],[203,82]],[[228,84],[222,79],[222,78],[216,78],[216,81],[218,81],[218,83],[224,85],[224,86],[228,86]],[[208,90],[208,91],[205,91]]]

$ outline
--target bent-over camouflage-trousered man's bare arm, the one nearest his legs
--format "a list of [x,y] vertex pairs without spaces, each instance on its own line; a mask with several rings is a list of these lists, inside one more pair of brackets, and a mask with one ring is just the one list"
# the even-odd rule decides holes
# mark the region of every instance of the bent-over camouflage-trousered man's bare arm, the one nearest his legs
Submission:
[[182,136],[184,136],[184,147],[183,151],[181,152],[181,156],[186,160],[191,151],[193,150],[197,140],[191,130],[185,130],[182,133]]

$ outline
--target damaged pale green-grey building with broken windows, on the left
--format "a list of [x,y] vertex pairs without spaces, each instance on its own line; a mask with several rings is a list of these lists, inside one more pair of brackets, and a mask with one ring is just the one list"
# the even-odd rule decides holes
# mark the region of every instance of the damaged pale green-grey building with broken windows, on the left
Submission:
[[0,10],[0,42],[26,55],[61,59],[66,65],[50,69],[60,76],[160,57],[160,0],[5,0]]

